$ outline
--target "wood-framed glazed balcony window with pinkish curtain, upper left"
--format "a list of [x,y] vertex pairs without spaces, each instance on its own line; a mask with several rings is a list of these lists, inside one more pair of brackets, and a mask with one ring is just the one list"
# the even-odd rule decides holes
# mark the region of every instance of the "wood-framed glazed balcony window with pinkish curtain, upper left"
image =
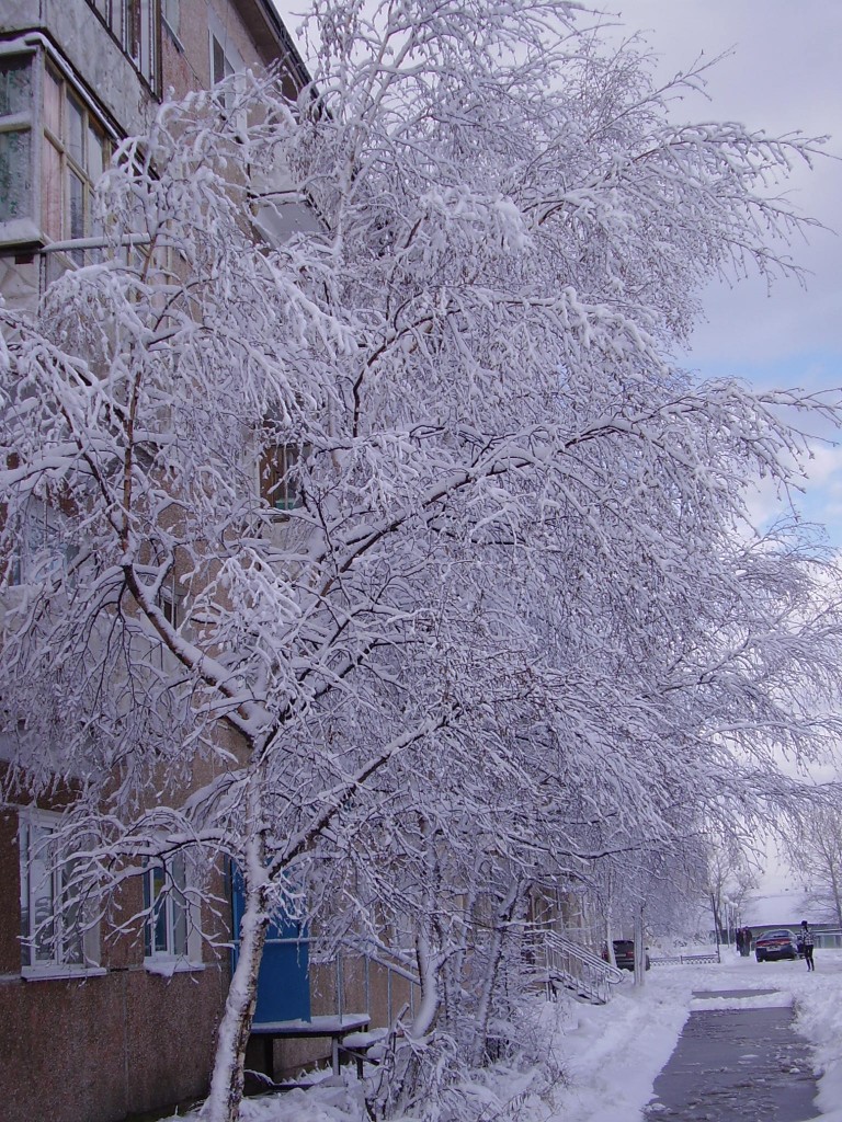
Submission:
[[[104,129],[67,82],[44,75],[42,228],[53,241],[101,233],[93,219],[93,187],[111,155]],[[71,257],[82,265],[84,251]]]

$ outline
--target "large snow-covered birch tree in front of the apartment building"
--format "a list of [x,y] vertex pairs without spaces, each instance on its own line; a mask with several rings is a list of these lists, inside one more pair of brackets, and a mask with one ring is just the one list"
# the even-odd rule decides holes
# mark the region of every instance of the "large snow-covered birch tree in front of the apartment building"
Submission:
[[743,504],[824,406],[668,358],[703,283],[787,270],[766,187],[815,145],[670,123],[699,75],[560,0],[313,12],[298,105],[164,105],[110,252],[0,310],[10,775],[68,784],[80,891],[239,866],[211,1122],[278,905],[403,914],[413,1055],[445,1005],[474,1063],[527,890],[789,797],[842,665],[821,562]]

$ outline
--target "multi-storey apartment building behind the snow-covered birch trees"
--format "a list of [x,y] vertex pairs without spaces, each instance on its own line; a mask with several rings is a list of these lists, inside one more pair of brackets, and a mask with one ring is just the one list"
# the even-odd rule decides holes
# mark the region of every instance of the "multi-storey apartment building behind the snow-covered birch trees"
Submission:
[[[54,277],[97,252],[97,180],[115,146],[148,128],[166,91],[179,96],[272,63],[294,96],[308,76],[269,0],[6,0],[0,294],[7,304],[34,307]],[[303,204],[296,220],[313,221]],[[176,891],[162,896],[162,907],[154,907],[159,866],[130,890],[127,913],[148,910],[141,932],[103,922],[74,934],[61,871],[49,871],[44,858],[68,798],[58,791],[36,806],[21,793],[0,815],[6,1122],[112,1122],[201,1095],[230,978],[229,950],[213,949],[198,932],[216,923],[225,944],[232,917],[196,912],[204,905],[180,894],[187,874],[177,861],[166,871]],[[236,913],[226,877],[220,870],[219,894],[229,893]],[[264,974],[258,1013],[263,1008],[274,1021],[367,1008],[378,987],[385,1019],[399,988],[409,993],[405,978],[393,993],[388,972],[363,968],[359,959],[349,959],[345,974],[338,962],[311,969],[306,939],[289,930],[271,939]],[[275,1069],[324,1050],[323,1040],[268,1039]]]

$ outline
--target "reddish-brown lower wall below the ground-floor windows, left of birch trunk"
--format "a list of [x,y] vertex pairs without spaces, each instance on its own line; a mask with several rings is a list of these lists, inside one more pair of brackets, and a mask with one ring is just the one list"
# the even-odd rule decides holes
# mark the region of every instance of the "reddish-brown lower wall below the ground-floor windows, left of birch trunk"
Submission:
[[113,1122],[208,1087],[227,977],[0,981],[3,1122]]

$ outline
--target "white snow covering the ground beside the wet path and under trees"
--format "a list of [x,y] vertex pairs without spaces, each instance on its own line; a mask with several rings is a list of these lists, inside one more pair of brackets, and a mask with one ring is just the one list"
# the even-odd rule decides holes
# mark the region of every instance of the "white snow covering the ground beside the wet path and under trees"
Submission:
[[[694,999],[693,991],[775,988],[766,997]],[[757,963],[731,956],[721,964],[653,966],[646,985],[631,980],[608,1005],[548,1005],[541,1022],[548,1055],[561,1077],[534,1094],[528,1073],[502,1077],[510,1109],[497,1116],[519,1122],[640,1122],[656,1076],[694,1010],[793,1003],[797,1027],[814,1046],[817,1118],[842,1122],[842,950],[816,950],[816,969],[803,962]],[[500,1085],[495,1087],[500,1093]],[[501,1103],[497,1100],[497,1107]],[[497,1114],[497,1111],[492,1111]],[[340,1084],[253,1098],[246,1122],[359,1122],[360,1085],[351,1068]]]

